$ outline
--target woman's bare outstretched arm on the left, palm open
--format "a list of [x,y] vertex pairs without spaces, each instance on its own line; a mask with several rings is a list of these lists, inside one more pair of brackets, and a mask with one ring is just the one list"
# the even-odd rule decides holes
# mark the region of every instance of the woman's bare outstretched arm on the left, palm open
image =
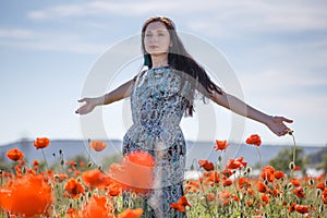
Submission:
[[96,97],[96,98],[83,98],[78,100],[78,102],[85,102],[85,104],[81,106],[75,112],[80,114],[86,114],[93,111],[94,108],[97,106],[109,105],[111,102],[129,97],[131,95],[133,83],[134,81],[131,80],[104,96]]

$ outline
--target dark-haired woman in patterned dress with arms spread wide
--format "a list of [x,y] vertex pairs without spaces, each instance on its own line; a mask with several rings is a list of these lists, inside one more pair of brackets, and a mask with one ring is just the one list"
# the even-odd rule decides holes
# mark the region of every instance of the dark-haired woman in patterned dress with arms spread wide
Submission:
[[145,217],[182,217],[170,208],[183,195],[185,142],[179,126],[183,114],[192,116],[195,92],[203,98],[267,125],[278,136],[292,120],[263,113],[222,92],[186,52],[173,23],[152,17],[142,28],[144,64],[148,70],[98,98],[83,98],[80,114],[95,107],[131,97],[133,125],[123,140],[123,155],[145,150],[156,159],[155,184]]

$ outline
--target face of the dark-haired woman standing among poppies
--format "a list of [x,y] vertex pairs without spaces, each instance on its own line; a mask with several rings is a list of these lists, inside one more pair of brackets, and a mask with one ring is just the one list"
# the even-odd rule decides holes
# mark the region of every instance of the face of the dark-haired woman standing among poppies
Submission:
[[144,35],[145,51],[152,56],[167,53],[170,34],[165,24],[156,21],[147,25]]

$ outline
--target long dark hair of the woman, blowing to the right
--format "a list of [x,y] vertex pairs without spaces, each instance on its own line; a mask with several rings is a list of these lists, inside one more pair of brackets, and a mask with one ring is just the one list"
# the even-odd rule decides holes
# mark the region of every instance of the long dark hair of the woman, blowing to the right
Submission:
[[[166,28],[170,34],[170,41],[172,46],[168,50],[168,64],[178,71],[186,73],[191,80],[191,92],[186,97],[186,110],[187,116],[192,116],[194,111],[193,100],[195,89],[203,94],[203,100],[206,97],[210,97],[214,92],[222,94],[220,87],[218,87],[208,76],[206,71],[192,58],[192,56],[186,51],[182,40],[175,32],[173,22],[168,17],[156,16],[148,19],[142,27],[142,51],[144,55],[144,65],[148,68],[153,66],[150,55],[146,52],[144,45],[145,31],[147,26],[153,22],[161,22],[165,24]],[[184,81],[184,80],[183,80]]]

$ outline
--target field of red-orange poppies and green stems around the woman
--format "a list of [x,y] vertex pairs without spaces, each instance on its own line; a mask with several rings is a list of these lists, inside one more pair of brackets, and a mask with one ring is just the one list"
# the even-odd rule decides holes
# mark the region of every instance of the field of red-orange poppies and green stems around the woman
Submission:
[[[251,135],[245,143],[259,150],[262,141]],[[44,153],[51,142],[39,137],[31,146]],[[89,142],[97,153],[106,146]],[[293,157],[288,171],[264,166],[253,175],[243,157],[223,161],[229,146],[227,141],[213,143],[219,153],[217,161],[197,160],[193,166],[196,179],[184,181],[184,195],[171,208],[191,218],[326,217],[326,174],[299,177]],[[150,192],[155,166],[154,157],[145,152],[131,153],[108,169],[63,158],[55,167],[45,159],[27,162],[14,147],[7,150],[7,158],[12,170],[0,171],[0,217],[142,217],[142,196]]]

